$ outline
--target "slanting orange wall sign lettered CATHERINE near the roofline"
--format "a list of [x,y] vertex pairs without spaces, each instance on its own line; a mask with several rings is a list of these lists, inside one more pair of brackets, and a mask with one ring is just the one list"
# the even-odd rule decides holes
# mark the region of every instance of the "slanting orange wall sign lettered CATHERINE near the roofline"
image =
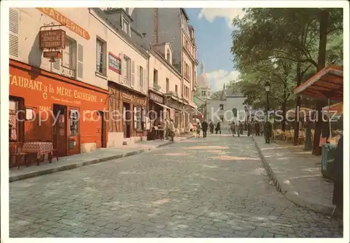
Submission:
[[41,11],[41,13],[45,13],[45,15],[48,15],[50,18],[52,18],[52,20],[56,20],[61,25],[66,25],[68,29],[78,34],[79,36],[83,37],[83,39],[90,40],[90,34],[85,29],[83,29],[83,27],[80,27],[75,22],[69,20],[69,18],[66,18],[66,16],[55,11],[55,9],[53,8],[36,8],[36,9],[38,11]]

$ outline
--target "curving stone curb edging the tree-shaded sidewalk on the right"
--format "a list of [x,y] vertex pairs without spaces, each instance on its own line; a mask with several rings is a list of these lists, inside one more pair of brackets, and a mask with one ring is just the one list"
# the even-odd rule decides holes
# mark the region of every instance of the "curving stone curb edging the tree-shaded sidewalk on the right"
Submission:
[[288,191],[288,189],[289,189],[288,186],[283,185],[277,179],[277,176],[274,174],[272,168],[269,166],[269,163],[266,161],[266,159],[265,159],[264,155],[262,154],[262,151],[260,150],[260,147],[258,146],[258,143],[255,141],[254,137],[252,137],[252,139],[254,141],[255,148],[257,149],[259,156],[262,160],[262,164],[265,167],[267,175],[274,182],[274,186],[276,186],[279,193],[281,193],[284,197],[286,197],[287,200],[297,204],[300,207],[306,207],[307,209],[311,209],[312,211],[316,211],[317,213],[325,214],[328,216],[330,216],[332,214],[332,211],[334,209],[333,207],[328,207],[328,206],[321,205],[321,204],[314,204],[311,202],[307,202],[307,201],[303,200],[301,197],[298,197],[297,195],[295,195],[294,193],[290,193],[290,191]]

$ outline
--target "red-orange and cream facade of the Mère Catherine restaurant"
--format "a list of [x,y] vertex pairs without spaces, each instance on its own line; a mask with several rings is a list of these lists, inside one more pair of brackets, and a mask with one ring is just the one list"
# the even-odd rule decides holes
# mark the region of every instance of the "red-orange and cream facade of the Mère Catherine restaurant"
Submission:
[[[59,156],[107,146],[108,83],[95,74],[87,20],[87,8],[10,8],[10,142],[52,141]],[[62,58],[43,57],[41,31],[52,29],[66,34]]]

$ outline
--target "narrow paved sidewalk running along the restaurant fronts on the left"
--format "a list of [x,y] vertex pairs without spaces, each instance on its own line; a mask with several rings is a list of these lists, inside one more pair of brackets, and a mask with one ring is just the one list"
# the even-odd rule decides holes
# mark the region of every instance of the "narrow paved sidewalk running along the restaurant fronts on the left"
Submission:
[[[189,139],[190,137],[175,137],[174,141],[182,141]],[[62,172],[68,169],[75,169],[85,165],[92,165],[107,160],[114,160],[117,158],[123,158],[130,155],[136,155],[143,153],[144,151],[151,151],[161,146],[172,144],[169,140],[153,140],[153,141],[141,141],[137,144],[118,146],[116,148],[100,148],[92,153],[80,153],[77,155],[71,155],[59,158],[57,162],[56,158],[52,159],[52,163],[47,161],[42,162],[39,166],[31,165],[29,167],[21,166],[10,168],[9,181],[19,181],[28,179],[35,176],[41,176],[43,174],[52,174],[55,172]]]

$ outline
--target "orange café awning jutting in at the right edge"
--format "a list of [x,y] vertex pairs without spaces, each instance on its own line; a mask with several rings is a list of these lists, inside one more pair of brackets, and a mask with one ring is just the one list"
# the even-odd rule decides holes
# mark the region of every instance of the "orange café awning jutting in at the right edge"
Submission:
[[330,64],[295,88],[296,95],[315,99],[343,100],[343,67]]

